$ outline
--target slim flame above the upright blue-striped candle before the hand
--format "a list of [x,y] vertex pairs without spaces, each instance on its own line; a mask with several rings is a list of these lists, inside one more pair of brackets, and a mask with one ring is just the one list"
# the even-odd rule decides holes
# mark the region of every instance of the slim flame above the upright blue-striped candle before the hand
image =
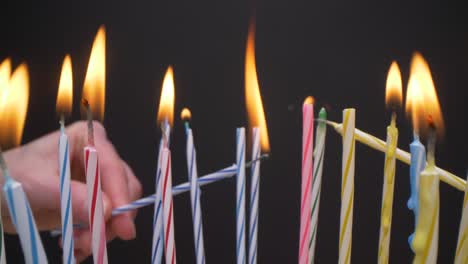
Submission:
[[57,94],[57,113],[70,115],[73,104],[73,74],[70,55],[65,56]]

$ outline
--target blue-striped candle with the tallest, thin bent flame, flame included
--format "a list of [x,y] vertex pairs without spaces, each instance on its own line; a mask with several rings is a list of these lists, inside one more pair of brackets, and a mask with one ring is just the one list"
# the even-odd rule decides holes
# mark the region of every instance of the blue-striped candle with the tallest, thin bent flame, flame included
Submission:
[[245,102],[252,135],[252,167],[250,175],[250,206],[248,229],[248,263],[257,263],[258,216],[260,197],[261,153],[270,151],[268,130],[255,66],[255,24],[250,23],[245,51]]

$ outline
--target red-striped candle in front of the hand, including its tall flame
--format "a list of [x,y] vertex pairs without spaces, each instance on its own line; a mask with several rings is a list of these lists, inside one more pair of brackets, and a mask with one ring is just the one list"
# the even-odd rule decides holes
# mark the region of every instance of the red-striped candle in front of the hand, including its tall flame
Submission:
[[83,104],[86,107],[88,121],[88,145],[84,147],[84,161],[86,172],[86,187],[88,193],[88,214],[91,228],[91,249],[95,264],[106,264],[106,223],[104,221],[104,207],[101,190],[101,171],[99,168],[98,151],[94,147],[93,112],[102,120],[105,103],[105,72],[106,72],[106,33],[101,26],[89,58],[88,70],[83,87]]

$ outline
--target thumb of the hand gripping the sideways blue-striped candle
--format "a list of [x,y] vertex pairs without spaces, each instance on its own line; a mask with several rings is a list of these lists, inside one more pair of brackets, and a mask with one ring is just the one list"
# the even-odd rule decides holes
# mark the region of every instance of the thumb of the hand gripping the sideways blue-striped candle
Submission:
[[[88,193],[86,184],[80,181],[71,181],[71,196],[72,196],[72,206],[73,206],[73,219],[75,223],[80,224],[89,224],[89,214],[88,214]],[[109,197],[104,192],[102,194],[102,203],[104,208],[104,221],[111,217],[112,204]]]

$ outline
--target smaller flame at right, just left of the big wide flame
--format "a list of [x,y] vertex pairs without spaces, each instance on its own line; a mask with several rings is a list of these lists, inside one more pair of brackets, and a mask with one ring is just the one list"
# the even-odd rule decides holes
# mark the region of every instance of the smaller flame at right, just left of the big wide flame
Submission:
[[385,89],[385,103],[387,107],[392,110],[401,107],[403,101],[402,83],[398,63],[393,61],[390,65],[390,69],[388,70],[387,85]]

